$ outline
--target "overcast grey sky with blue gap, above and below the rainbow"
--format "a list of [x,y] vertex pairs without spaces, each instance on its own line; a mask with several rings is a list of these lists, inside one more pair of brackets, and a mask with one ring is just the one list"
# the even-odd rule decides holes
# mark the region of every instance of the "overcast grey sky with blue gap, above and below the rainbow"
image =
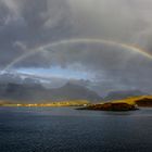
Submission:
[[[98,91],[152,91],[151,0],[0,0],[0,71],[89,80]],[[53,42],[102,39],[111,42]],[[39,50],[30,53],[34,50]],[[26,55],[29,54],[29,55]],[[90,85],[91,84],[91,85]]]

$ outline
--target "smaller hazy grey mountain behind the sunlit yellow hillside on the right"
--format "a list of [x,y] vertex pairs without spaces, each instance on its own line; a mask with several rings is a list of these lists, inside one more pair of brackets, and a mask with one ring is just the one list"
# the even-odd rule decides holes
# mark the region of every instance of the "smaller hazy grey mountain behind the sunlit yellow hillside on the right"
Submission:
[[119,99],[125,99],[128,97],[138,97],[138,96],[144,96],[144,94],[148,94],[148,93],[144,93],[140,90],[112,91],[107,93],[104,100],[119,100]]

